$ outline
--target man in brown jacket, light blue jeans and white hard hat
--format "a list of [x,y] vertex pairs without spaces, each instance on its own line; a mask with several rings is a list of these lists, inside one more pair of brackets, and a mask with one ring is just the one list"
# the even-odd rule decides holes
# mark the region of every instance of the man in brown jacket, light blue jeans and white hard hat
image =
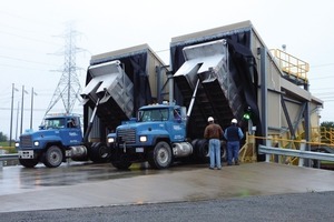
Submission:
[[209,117],[207,121],[208,125],[204,130],[204,138],[209,140],[209,169],[214,170],[217,167],[218,170],[222,170],[220,138],[223,138],[224,131],[220,125],[215,123],[214,118]]

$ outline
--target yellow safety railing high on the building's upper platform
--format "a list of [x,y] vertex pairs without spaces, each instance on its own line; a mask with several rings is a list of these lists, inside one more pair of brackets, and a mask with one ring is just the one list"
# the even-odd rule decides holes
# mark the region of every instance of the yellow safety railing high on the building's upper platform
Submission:
[[285,51],[279,49],[271,50],[273,56],[276,58],[279,69],[293,78],[297,78],[307,82],[307,72],[310,65],[307,62],[299,60]]

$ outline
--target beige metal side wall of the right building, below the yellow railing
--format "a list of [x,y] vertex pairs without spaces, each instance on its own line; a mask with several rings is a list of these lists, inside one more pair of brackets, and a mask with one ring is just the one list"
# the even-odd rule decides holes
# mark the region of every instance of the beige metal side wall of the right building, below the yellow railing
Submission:
[[[317,109],[323,105],[323,101],[312,97],[312,93],[307,91],[310,82],[305,82],[305,85],[299,85],[294,83],[293,80],[289,81],[284,78],[279,64],[253,24],[249,21],[242,23],[252,27],[253,40],[250,46],[253,53],[257,54],[257,68],[259,71],[262,71],[262,58],[258,56],[258,51],[261,48],[266,49],[266,105],[265,108],[262,107],[262,103],[258,103],[258,105],[262,112],[267,112],[267,135],[289,137],[287,139],[293,139],[291,138],[293,134],[294,138],[305,137],[305,128],[307,128],[307,125],[305,125],[305,121],[307,122],[306,119],[310,121],[310,130],[318,128],[320,117]],[[259,74],[259,82],[262,82],[262,77],[263,75]],[[263,85],[259,85],[258,89],[259,101],[263,99],[262,87]],[[308,114],[306,114],[306,105],[308,105]]]

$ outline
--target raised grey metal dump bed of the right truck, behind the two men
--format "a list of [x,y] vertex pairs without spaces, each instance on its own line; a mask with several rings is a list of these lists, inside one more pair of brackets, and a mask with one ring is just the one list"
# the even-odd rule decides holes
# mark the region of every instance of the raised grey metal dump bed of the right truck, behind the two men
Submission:
[[[200,88],[196,94],[196,108],[191,122],[207,124],[207,117],[217,122],[228,122],[243,112],[243,101],[234,80],[228,74],[228,49],[226,40],[217,40],[185,47],[185,62],[174,75],[174,80],[184,100],[193,97],[197,81]],[[188,102],[187,102],[188,103]]]

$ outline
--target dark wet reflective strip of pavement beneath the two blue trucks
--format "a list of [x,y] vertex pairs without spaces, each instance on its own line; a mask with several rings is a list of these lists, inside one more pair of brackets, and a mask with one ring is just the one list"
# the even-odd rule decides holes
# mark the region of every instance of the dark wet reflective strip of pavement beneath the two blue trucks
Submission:
[[58,168],[49,169],[38,164],[33,169],[21,165],[6,167],[0,171],[0,193],[6,189],[37,189],[42,186],[75,185],[84,182],[106,181],[114,179],[132,178],[150,174],[173,173],[176,171],[196,170],[204,165],[175,164],[169,169],[150,169],[147,163],[134,163],[129,170],[117,170],[110,163],[63,163]]

